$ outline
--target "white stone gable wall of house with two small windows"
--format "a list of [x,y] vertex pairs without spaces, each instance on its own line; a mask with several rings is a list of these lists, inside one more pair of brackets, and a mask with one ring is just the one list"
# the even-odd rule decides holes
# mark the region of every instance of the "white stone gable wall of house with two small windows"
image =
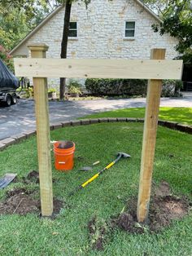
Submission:
[[[11,51],[28,56],[28,44],[46,43],[47,58],[59,58],[64,7],[55,9]],[[87,7],[72,5],[68,58],[149,59],[151,48],[166,48],[166,58],[177,56],[177,38],[154,33],[159,17],[140,0],[92,0]]]

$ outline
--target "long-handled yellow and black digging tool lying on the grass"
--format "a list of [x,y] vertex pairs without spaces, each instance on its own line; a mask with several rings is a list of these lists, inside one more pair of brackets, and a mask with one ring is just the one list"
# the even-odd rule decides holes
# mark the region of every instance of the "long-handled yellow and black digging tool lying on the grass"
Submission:
[[129,156],[129,154],[124,153],[124,152],[118,152],[117,153],[117,158],[116,160],[112,161],[108,166],[106,166],[105,168],[103,168],[102,170],[99,170],[97,174],[94,174],[93,177],[91,177],[90,179],[88,179],[87,181],[85,181],[85,183],[82,183],[79,187],[77,187],[74,191],[70,192],[69,196],[72,196],[75,192],[77,192],[78,190],[80,190],[81,188],[85,188],[86,185],[88,185],[89,183],[91,183],[92,181],[94,181],[94,179],[98,178],[98,176],[100,174],[103,174],[104,170],[109,169],[111,166],[114,166],[116,164],[117,161],[120,160],[121,157],[127,158],[127,157],[131,157]]

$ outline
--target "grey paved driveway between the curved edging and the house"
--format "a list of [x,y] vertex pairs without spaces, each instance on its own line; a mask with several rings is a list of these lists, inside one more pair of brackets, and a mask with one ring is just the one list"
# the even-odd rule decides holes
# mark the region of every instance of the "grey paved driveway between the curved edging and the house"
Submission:
[[[50,124],[59,121],[69,121],[88,114],[105,112],[118,108],[145,107],[146,99],[102,99],[87,101],[50,101]],[[183,98],[162,98],[161,107],[192,108],[192,95],[185,94]],[[34,101],[20,99],[19,103],[10,108],[0,107],[0,140],[36,129]]]

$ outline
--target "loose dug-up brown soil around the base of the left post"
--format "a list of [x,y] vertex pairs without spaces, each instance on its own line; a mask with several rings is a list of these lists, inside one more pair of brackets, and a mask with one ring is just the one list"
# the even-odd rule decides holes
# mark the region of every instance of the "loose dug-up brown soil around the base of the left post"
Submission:
[[[37,193],[34,191],[27,191],[25,188],[15,188],[7,192],[7,200],[0,202],[0,214],[20,214],[26,215],[28,213],[41,212],[41,203],[39,199],[35,199]],[[59,214],[63,208],[63,201],[54,199],[54,215]]]

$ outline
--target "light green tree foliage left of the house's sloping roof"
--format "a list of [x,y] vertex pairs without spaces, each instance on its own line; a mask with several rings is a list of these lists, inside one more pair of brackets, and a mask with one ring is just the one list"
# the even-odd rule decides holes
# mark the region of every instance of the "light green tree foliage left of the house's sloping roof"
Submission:
[[0,0],[0,44],[11,50],[49,11],[44,0]]

